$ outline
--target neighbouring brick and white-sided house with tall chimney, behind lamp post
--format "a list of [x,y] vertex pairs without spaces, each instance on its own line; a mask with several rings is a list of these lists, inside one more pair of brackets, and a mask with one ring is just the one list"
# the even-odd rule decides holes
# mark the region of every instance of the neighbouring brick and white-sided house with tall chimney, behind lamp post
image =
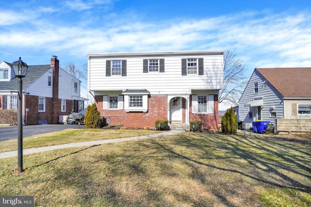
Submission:
[[[23,123],[39,121],[57,124],[59,115],[69,115],[84,108],[80,97],[81,81],[59,68],[56,56],[51,64],[28,65],[23,78]],[[29,93],[29,94],[28,94]],[[17,78],[10,63],[0,62],[0,110],[17,109]]]

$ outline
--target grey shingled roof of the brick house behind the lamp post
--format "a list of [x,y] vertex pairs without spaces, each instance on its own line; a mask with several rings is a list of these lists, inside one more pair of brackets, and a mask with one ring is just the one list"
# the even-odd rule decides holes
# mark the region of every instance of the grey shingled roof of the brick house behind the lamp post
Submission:
[[[6,63],[8,64],[8,63]],[[12,66],[11,64],[8,64]],[[26,76],[23,80],[23,89],[29,87],[35,80],[40,78],[43,74],[45,74],[52,67],[49,64],[44,65],[28,65],[28,70]],[[17,90],[17,80],[18,78],[14,78],[10,81],[0,81],[0,91],[16,91]]]

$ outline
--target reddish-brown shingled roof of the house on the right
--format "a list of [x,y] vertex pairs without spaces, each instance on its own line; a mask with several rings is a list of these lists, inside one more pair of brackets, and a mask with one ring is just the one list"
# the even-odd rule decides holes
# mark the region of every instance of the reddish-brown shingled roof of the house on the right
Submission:
[[255,68],[284,98],[311,97],[311,67]]

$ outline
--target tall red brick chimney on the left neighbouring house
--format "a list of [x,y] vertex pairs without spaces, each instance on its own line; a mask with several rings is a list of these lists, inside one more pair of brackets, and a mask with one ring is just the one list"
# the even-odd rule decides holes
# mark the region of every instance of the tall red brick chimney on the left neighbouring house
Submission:
[[58,81],[59,81],[59,60],[53,55],[51,58],[51,67],[53,67],[53,88],[52,88],[52,124],[58,123],[58,115],[61,109],[61,101],[58,99]]

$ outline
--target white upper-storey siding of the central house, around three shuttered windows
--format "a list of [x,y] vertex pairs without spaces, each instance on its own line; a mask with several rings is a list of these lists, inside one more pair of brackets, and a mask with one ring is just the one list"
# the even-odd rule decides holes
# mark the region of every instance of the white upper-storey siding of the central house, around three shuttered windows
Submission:
[[[143,73],[143,59],[165,59],[165,72]],[[181,75],[182,58],[204,58],[204,75]],[[89,57],[89,90],[103,91],[147,89],[150,94],[190,94],[193,90],[223,88],[223,55]],[[127,60],[127,76],[105,76],[106,60]]]

